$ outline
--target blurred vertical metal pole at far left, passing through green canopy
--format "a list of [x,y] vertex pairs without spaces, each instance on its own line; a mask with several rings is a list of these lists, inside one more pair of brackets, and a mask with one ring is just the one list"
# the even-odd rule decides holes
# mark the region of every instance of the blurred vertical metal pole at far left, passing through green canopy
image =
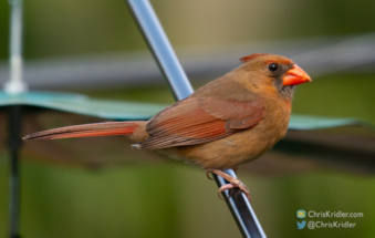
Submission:
[[[22,93],[28,85],[22,80],[22,0],[8,0],[10,4],[10,79],[3,89],[6,93]],[[14,105],[8,112],[8,147],[10,153],[9,175],[9,237],[20,237],[20,166],[22,106]]]

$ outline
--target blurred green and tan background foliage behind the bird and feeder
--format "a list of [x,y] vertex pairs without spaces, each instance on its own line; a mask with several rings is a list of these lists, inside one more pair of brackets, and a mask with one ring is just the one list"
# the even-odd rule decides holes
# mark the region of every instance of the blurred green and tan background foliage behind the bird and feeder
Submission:
[[[375,1],[159,0],[152,3],[177,50],[375,31]],[[124,1],[25,0],[24,8],[25,62],[146,50]],[[6,62],[7,1],[0,2],[0,60]],[[250,53],[253,52],[243,55]],[[374,77],[368,72],[332,74],[301,85],[293,113],[356,117],[375,123]],[[201,84],[197,82],[195,87]],[[174,102],[165,85],[124,84],[74,91],[101,99]],[[4,147],[0,155],[0,236],[6,236],[8,154]],[[127,155],[118,153],[118,156]],[[25,158],[22,237],[240,237],[227,206],[217,198],[217,186],[198,168],[167,162],[92,170]],[[240,168],[239,177],[251,190],[252,206],[268,237],[375,236],[373,176],[329,169],[261,176],[241,173]],[[364,213],[364,218],[324,219],[356,223],[353,229],[296,230],[298,209]]]

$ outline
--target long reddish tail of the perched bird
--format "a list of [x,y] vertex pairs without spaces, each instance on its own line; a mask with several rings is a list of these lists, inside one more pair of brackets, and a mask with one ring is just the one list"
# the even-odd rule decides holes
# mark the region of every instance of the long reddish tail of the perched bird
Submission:
[[145,126],[146,122],[142,121],[93,123],[37,132],[24,136],[23,139],[31,141],[31,139],[55,139],[55,138],[108,136],[108,135],[132,135],[138,127],[139,128],[142,127],[143,133],[146,133]]

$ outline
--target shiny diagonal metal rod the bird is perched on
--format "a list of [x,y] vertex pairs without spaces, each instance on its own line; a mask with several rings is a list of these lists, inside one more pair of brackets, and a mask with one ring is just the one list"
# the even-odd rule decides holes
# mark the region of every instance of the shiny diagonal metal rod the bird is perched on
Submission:
[[[165,75],[176,100],[183,100],[190,95],[194,90],[187,79],[163,27],[148,0],[127,0],[144,38]],[[225,170],[227,174],[237,177],[232,169]],[[213,175],[218,186],[228,184],[226,179]],[[230,193],[230,196],[229,196]],[[265,237],[264,231],[248,200],[238,189],[225,192],[227,205],[243,237]]]

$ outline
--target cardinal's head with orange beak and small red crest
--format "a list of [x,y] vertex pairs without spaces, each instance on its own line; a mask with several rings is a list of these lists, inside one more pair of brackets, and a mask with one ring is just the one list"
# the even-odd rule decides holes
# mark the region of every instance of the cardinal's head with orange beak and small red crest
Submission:
[[292,60],[275,54],[251,54],[241,58],[243,70],[250,73],[254,87],[277,90],[287,99],[292,99],[298,84],[311,82],[311,77]]

